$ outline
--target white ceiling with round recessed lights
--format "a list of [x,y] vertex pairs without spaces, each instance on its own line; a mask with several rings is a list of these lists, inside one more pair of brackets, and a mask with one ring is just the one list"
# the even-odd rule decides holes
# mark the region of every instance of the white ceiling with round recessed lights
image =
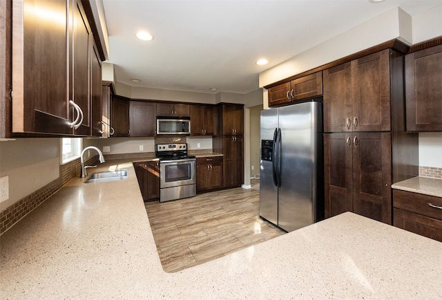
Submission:
[[[258,73],[383,12],[416,15],[442,1],[103,0],[118,82],[200,93],[249,93]],[[135,37],[138,30],[153,41]],[[269,64],[258,66],[265,58]],[[131,78],[140,79],[135,83]],[[218,88],[211,91],[209,88]]]

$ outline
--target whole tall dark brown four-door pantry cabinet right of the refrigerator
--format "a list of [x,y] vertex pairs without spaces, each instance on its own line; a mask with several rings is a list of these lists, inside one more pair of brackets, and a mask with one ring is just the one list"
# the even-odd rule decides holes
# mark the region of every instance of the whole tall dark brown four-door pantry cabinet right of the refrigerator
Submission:
[[418,176],[403,66],[385,49],[323,71],[326,218],[350,211],[392,224],[392,183]]

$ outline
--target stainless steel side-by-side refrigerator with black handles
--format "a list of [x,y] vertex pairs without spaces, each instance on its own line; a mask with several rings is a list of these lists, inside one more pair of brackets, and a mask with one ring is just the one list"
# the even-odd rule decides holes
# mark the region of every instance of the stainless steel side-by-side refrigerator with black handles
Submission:
[[261,111],[260,216],[287,232],[324,218],[323,105]]

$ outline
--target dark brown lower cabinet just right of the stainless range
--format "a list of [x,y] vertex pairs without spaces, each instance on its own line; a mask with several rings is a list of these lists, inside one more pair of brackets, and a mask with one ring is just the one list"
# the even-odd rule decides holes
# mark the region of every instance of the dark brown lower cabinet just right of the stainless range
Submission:
[[222,156],[196,159],[196,191],[202,193],[222,188]]

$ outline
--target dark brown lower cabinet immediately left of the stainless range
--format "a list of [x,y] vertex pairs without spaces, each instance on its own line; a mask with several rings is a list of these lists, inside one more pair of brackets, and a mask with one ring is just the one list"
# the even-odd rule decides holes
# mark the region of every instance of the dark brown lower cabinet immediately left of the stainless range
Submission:
[[135,174],[144,201],[160,199],[160,163],[134,162]]

